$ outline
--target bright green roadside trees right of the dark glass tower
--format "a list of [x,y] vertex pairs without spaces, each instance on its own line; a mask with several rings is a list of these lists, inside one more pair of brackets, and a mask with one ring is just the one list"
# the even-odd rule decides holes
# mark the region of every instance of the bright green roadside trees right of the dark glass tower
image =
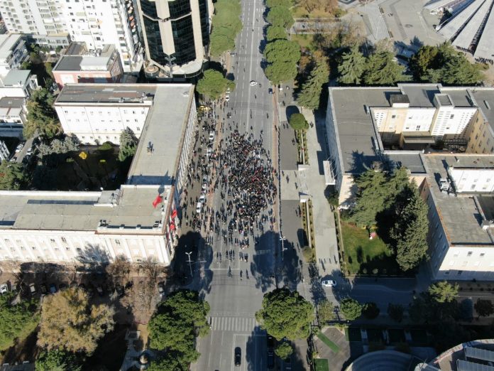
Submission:
[[240,14],[239,1],[218,0],[214,4],[213,29],[209,38],[209,50],[214,57],[234,50],[236,36],[242,30]]

